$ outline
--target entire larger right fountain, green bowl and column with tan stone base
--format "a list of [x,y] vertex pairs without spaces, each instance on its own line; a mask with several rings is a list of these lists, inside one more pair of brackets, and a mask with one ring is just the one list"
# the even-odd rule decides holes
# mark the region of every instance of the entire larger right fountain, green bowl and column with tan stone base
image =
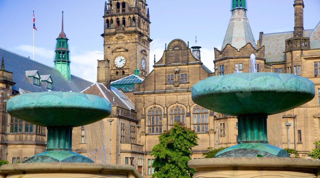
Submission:
[[[192,87],[192,100],[212,111],[237,116],[238,145],[215,158],[193,159],[194,178],[315,178],[320,160],[290,158],[268,145],[268,115],[301,106],[315,96],[315,84],[293,74],[268,72],[213,76]],[[280,98],[280,100],[279,100]]]

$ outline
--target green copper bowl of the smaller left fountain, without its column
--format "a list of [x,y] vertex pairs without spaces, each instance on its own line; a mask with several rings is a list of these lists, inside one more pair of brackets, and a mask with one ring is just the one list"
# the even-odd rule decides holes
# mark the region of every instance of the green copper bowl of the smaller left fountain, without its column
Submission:
[[78,127],[111,114],[111,104],[97,95],[76,92],[40,92],[14,96],[7,112],[36,125]]

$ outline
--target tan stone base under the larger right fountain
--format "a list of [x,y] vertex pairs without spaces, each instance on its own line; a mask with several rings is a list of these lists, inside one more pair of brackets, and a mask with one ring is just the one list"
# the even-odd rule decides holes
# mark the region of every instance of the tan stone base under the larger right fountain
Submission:
[[204,158],[188,162],[193,178],[319,178],[320,160],[302,158]]

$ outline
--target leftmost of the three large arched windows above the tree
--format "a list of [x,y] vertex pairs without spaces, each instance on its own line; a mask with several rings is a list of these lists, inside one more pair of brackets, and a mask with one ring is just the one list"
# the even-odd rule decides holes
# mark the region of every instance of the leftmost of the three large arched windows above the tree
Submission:
[[148,110],[148,133],[162,133],[162,109],[153,107]]

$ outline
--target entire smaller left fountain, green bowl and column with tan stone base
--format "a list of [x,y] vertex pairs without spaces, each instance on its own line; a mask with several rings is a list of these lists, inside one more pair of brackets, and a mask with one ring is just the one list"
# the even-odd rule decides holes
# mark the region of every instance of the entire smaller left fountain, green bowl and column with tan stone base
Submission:
[[142,178],[133,166],[96,164],[72,152],[72,128],[108,117],[106,99],[74,92],[26,93],[8,100],[7,112],[47,127],[47,149],[20,164],[1,166],[0,178]]

